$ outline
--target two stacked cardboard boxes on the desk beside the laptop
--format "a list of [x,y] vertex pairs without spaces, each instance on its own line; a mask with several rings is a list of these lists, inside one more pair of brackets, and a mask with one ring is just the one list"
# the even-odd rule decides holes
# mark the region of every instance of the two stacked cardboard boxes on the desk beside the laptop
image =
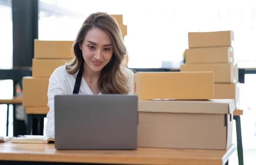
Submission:
[[[138,72],[138,147],[227,149],[233,99],[213,99],[212,72]],[[207,100],[212,99],[212,100]]]

